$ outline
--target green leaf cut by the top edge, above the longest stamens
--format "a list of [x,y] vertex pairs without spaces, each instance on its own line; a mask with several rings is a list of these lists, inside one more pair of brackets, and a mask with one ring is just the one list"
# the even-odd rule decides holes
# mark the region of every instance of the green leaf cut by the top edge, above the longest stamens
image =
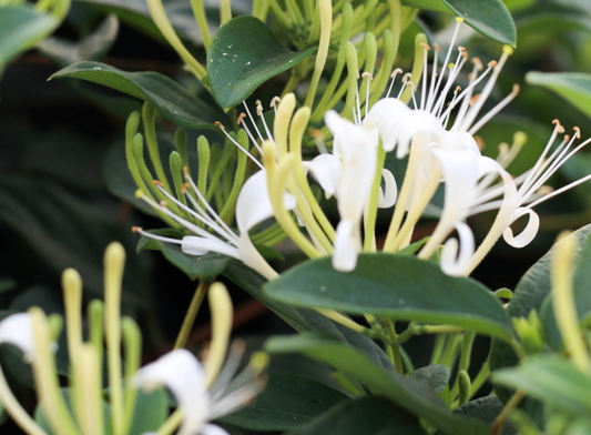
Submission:
[[403,4],[452,12],[493,41],[513,47],[517,43],[513,18],[501,0],[403,0]]

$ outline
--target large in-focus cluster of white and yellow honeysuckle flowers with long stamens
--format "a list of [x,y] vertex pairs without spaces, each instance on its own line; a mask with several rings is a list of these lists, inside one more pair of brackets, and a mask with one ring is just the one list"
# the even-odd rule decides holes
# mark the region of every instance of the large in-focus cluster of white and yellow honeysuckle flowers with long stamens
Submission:
[[[312,161],[303,161],[302,139],[310,113],[307,107],[295,111],[293,94],[285,95],[278,104],[273,102],[276,111],[273,134],[265,123],[261,105],[257,113],[265,135],[258,131],[249,112],[247,117],[241,115],[241,121],[248,118],[254,125],[253,134],[242,122],[252,143],[263,154],[263,164],[248,154],[261,170],[246,181],[238,195],[236,221],[240,235],[226,226],[221,227],[214,218],[203,222],[223,241],[212,240],[210,232],[190,225],[162,205],[151,203],[195,233],[182,241],[166,241],[181,243],[188,254],[214,251],[231,255],[273,279],[274,271],[251,243],[248,231],[274,215],[285,233],[309,257],[333,255],[334,267],[347,272],[355,269],[358,253],[377,249],[375,223],[378,208],[394,206],[383,250],[398,252],[410,243],[416,223],[444,183],[445,204],[434,233],[418,252],[420,259],[432,257],[442,244],[441,269],[449,275],[461,276],[471,273],[500,236],[512,246],[527,245],[539,227],[533,206],[589,179],[583,178],[556,192],[544,185],[589,141],[574,148],[574,141],[580,138],[579,129],[574,128],[572,136],[564,135],[560,122],[554,121],[553,133],[538,162],[514,179],[506,169],[524,144],[527,138],[523,133],[517,133],[512,148],[501,152],[497,160],[482,155],[473,134],[518,94],[519,87],[513,87],[506,99],[481,114],[512,49],[505,47],[499,61],[491,61],[486,68],[479,59],[469,59],[462,47],[454,54],[461,21],[458,19],[444,67],[439,68],[439,48],[436,45],[432,67],[428,68],[431,48],[419,42],[424,52],[420,81],[404,74],[398,97],[390,97],[390,93],[400,70],[391,74],[387,95],[373,105],[369,98],[371,75],[367,72],[363,74],[367,83],[365,101],[359,101],[357,93],[353,122],[345,118],[346,113],[330,110],[325,114],[326,127],[334,136],[332,153],[324,152]],[[467,85],[463,89],[455,87],[468,63],[472,68]],[[408,105],[405,100],[411,101],[411,104]],[[552,150],[559,135],[562,140]],[[237,141],[232,141],[248,153]],[[397,159],[408,158],[399,192],[394,175],[384,168],[388,152],[395,153]],[[306,174],[318,182],[327,198],[336,198],[340,215],[336,229],[312,194]],[[187,180],[195,190],[188,176]],[[198,192],[195,193],[198,195]],[[183,208],[179,200],[169,198]],[[497,218],[483,242],[477,246],[466,220],[491,210],[497,210]],[[211,208],[207,211],[213,213]],[[291,216],[292,212],[299,225]],[[528,218],[528,223],[516,235],[511,224],[522,216]]]

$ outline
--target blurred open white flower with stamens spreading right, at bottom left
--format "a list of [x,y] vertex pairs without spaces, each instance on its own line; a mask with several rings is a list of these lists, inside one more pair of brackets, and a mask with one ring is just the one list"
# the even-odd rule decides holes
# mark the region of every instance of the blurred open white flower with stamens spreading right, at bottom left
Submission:
[[[231,355],[232,357],[232,355]],[[248,404],[262,390],[255,378],[244,386],[226,392],[234,375],[235,361],[228,360],[230,376],[222,376],[224,385],[215,385],[218,393],[207,390],[205,372],[198,360],[187,350],[174,350],[155,362],[140,368],[132,378],[133,384],[144,391],[165,386],[174,395],[183,412],[183,422],[177,435],[227,435],[222,427],[208,422],[231,414]],[[224,373],[224,370],[223,372]]]

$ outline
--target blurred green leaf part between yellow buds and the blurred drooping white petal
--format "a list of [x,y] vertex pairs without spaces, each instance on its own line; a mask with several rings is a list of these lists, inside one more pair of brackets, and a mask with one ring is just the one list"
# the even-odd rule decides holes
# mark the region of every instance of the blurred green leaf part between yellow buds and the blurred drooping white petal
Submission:
[[151,393],[137,391],[137,401],[133,412],[130,435],[154,433],[169,416],[169,394],[164,388],[156,388]]

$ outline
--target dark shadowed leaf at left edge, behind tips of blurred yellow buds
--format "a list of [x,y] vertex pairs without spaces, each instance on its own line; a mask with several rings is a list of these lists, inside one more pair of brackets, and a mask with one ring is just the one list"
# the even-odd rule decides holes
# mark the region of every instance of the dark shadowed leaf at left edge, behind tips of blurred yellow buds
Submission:
[[[82,276],[84,291],[103,295],[103,253],[112,241],[133,252],[133,234],[88,203],[48,180],[0,176],[0,221],[20,234],[52,271],[73,267]],[[122,301],[147,306],[150,283],[137,256],[129,255],[123,277]]]

